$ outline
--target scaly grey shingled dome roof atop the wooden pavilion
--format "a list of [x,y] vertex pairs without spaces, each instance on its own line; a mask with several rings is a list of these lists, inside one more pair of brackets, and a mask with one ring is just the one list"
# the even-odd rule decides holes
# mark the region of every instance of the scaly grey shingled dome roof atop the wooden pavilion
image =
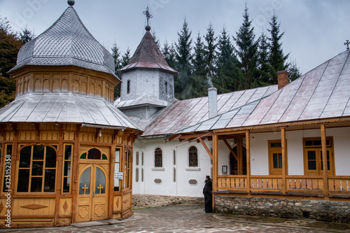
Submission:
[[90,34],[72,6],[49,29],[22,46],[11,71],[25,65],[72,65],[115,75],[111,53]]

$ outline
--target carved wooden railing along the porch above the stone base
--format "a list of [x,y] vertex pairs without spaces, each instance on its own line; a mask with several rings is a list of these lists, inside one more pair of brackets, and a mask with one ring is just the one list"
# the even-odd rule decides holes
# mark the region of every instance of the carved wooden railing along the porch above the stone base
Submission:
[[[283,192],[286,184],[286,192],[323,194],[323,176],[286,176],[283,182],[282,176],[250,176],[247,182],[246,176],[218,176],[218,190]],[[328,191],[330,194],[350,195],[350,176],[328,176]]]

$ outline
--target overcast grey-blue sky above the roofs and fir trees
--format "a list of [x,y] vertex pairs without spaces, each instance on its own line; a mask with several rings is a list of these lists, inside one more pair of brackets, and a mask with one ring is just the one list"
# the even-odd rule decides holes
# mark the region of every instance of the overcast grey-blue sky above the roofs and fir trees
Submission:
[[[90,33],[111,51],[116,41],[124,53],[139,45],[148,6],[153,15],[151,27],[163,45],[177,42],[186,17],[193,41],[198,31],[207,33],[209,23],[216,35],[223,27],[235,36],[241,23],[245,3],[253,20],[255,35],[269,29],[273,10],[278,15],[283,51],[290,52],[302,73],[314,69],[346,50],[350,40],[349,0],[76,0],[74,8]],[[68,7],[66,0],[0,0],[0,15],[8,17],[13,31],[27,26],[36,36],[48,29]]]

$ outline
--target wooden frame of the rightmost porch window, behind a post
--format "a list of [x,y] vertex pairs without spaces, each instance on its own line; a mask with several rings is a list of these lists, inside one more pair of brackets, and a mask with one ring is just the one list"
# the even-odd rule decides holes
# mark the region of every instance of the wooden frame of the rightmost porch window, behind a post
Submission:
[[[327,136],[326,137],[326,149],[330,150],[330,170],[328,170],[328,175],[332,176],[335,175],[335,154],[334,154],[334,139],[332,136]],[[303,150],[303,160],[304,160],[304,175],[307,176],[309,174],[309,160],[307,157],[307,151],[309,151],[312,148],[317,149],[318,151],[322,152],[322,144],[321,145],[311,145],[311,146],[305,146],[306,141],[321,141],[321,136],[319,137],[307,137],[302,139],[302,150]],[[322,176],[323,174],[323,169],[321,167],[323,166],[321,157],[318,157],[316,154],[316,172],[320,173],[320,175],[316,176]],[[313,175],[310,175],[313,176]]]

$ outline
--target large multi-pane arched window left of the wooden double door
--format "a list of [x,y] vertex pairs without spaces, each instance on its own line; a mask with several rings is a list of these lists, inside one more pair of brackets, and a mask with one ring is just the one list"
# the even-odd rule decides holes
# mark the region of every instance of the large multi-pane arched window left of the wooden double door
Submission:
[[50,146],[22,148],[17,192],[55,192],[56,157],[56,150]]

